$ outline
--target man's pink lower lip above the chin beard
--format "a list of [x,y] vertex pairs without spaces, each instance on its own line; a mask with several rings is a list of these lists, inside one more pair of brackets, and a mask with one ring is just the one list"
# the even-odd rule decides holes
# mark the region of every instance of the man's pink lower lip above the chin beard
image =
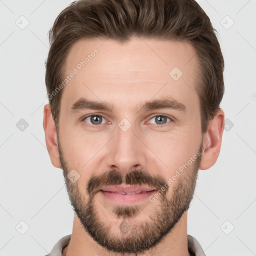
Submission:
[[102,191],[100,190],[100,194],[103,195],[104,198],[115,202],[115,203],[131,203],[131,202],[138,202],[145,199],[155,193],[156,190],[151,190],[145,193],[137,193],[137,194],[119,194],[109,191]]

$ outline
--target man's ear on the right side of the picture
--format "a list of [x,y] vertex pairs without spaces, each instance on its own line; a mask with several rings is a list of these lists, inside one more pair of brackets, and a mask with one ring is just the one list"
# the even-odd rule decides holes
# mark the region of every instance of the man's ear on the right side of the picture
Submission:
[[209,121],[207,131],[203,135],[203,149],[199,169],[210,168],[217,160],[224,130],[224,112],[218,109]]

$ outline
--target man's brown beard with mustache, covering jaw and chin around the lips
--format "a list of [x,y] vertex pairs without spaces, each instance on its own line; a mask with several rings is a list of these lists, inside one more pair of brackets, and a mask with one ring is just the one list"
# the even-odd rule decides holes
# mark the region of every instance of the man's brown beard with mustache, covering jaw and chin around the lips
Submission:
[[[199,156],[164,191],[161,188],[164,184],[166,187],[168,178],[158,174],[152,176],[145,169],[136,169],[128,173],[116,170],[108,170],[99,175],[94,173],[88,180],[87,186],[84,186],[84,190],[79,191],[78,182],[73,183],[67,177],[71,168],[63,158],[59,141],[58,150],[69,200],[84,230],[108,251],[137,255],[145,253],[146,250],[159,243],[166,234],[173,230],[182,214],[188,210],[196,185],[202,143],[198,150]],[[143,221],[136,218],[143,210],[141,204],[113,206],[113,204],[107,204],[105,200],[100,202],[95,197],[103,186],[120,184],[134,186],[143,184],[161,192],[154,202],[149,201],[145,204],[144,207],[151,208],[146,209],[148,214],[142,215]],[[172,191],[168,195],[170,187]],[[108,215],[113,220],[105,221],[103,217],[105,213],[100,215],[99,207],[95,207],[97,201],[106,208],[107,214],[109,213]]]

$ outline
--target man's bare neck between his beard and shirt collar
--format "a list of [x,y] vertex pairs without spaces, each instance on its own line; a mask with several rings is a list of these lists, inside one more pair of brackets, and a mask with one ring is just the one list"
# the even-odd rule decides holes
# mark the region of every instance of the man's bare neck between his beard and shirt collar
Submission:
[[[63,249],[62,256],[96,254],[100,256],[123,256],[122,254],[107,251],[105,248],[101,247],[89,236],[78,217],[74,215],[71,239],[68,245]],[[190,256],[187,247],[187,211],[184,212],[171,232],[166,234],[158,244],[150,248],[147,253],[140,254],[140,256],[148,255]]]

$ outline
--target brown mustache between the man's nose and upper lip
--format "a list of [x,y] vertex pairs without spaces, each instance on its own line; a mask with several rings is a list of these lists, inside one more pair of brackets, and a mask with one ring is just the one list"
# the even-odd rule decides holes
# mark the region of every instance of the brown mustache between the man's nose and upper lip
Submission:
[[[154,176],[150,175],[148,171],[139,169],[133,170],[126,174],[123,174],[116,170],[108,170],[101,175],[96,176],[95,174],[89,179],[87,184],[87,194],[93,197],[99,190],[104,186],[110,185],[147,185],[160,190],[164,186],[166,181],[159,174]],[[167,189],[164,191],[164,194]]]

